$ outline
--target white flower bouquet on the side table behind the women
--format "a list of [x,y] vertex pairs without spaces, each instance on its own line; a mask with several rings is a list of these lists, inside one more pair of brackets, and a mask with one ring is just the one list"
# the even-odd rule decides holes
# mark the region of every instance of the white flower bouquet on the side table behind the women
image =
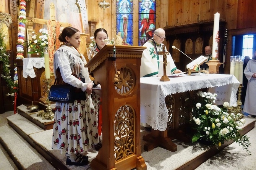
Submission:
[[44,47],[48,47],[48,32],[47,29],[40,29],[39,33],[41,35],[32,32],[32,40],[29,41],[28,47],[31,49],[29,54],[37,54],[40,57],[44,57]]

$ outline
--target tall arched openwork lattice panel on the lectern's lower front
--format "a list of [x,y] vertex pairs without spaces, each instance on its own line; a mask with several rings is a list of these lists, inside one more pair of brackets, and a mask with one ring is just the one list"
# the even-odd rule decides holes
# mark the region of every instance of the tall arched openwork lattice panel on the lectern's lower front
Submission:
[[115,161],[134,154],[134,109],[130,106],[121,106],[115,114],[114,145]]

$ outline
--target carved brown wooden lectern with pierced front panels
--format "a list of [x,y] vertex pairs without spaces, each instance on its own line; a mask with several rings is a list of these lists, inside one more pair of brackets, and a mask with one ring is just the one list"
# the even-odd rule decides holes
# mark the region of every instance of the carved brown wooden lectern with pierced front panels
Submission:
[[140,65],[146,47],[105,45],[87,64],[102,88],[102,148],[92,170],[146,170],[140,142]]

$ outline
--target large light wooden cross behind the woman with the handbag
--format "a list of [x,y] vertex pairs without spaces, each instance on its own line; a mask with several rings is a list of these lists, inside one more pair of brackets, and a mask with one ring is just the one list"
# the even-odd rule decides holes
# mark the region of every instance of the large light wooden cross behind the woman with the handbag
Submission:
[[[55,5],[50,3],[50,19],[32,18],[31,21],[36,24],[47,24],[48,30],[48,53],[50,62],[50,72],[53,75],[53,55],[55,50],[60,47],[60,41],[58,36],[60,35],[60,26],[67,27],[71,26],[70,23],[58,22],[55,18]],[[55,43],[54,43],[55,38]]]

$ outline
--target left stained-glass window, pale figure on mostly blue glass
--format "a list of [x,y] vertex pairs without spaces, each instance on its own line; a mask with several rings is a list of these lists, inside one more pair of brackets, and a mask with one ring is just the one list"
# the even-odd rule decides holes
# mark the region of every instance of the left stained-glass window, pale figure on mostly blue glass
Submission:
[[122,45],[133,45],[133,0],[117,0],[117,35]]

